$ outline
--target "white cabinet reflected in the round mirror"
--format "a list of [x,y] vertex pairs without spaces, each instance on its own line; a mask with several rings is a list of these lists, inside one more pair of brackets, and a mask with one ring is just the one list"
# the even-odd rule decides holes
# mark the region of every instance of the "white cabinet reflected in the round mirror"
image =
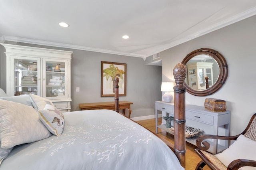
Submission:
[[209,87],[213,85],[213,63],[196,62],[187,64],[188,86],[195,90],[206,89],[205,77],[209,78]]

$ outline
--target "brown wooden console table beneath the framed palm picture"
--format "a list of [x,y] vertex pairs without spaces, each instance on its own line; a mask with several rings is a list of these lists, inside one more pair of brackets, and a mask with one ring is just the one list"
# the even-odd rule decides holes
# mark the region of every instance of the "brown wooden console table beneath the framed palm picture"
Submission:
[[[119,101],[119,109],[122,109],[124,111],[125,115],[125,109],[129,109],[129,118],[132,113],[131,105],[133,103],[130,101]],[[98,102],[98,103],[80,103],[79,104],[80,110],[95,110],[95,109],[110,109],[115,110],[115,103],[114,101],[110,102]]]

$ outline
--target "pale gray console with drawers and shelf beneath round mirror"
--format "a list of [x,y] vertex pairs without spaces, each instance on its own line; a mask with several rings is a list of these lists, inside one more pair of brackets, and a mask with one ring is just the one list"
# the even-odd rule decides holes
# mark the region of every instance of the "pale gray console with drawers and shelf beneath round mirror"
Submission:
[[[166,103],[164,101],[156,101],[156,133],[158,128],[165,130],[168,133],[173,134],[171,130],[166,128],[165,121],[162,121],[162,125],[157,125],[157,111],[162,111],[162,116],[174,117],[174,103]],[[200,128],[204,131],[204,134],[213,134],[221,136],[230,135],[230,111],[225,112],[212,112],[204,107],[195,105],[186,105],[186,126],[193,128]],[[198,136],[186,138],[186,142],[190,142],[196,145],[196,138]],[[209,152],[216,154],[222,150],[228,148],[228,141],[225,140],[208,140],[212,143]]]

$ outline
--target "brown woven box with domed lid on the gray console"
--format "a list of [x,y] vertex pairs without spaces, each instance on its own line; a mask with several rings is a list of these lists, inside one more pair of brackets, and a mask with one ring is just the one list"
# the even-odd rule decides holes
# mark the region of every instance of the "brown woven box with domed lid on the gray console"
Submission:
[[226,111],[226,101],[214,98],[206,98],[204,101],[204,108],[213,112]]

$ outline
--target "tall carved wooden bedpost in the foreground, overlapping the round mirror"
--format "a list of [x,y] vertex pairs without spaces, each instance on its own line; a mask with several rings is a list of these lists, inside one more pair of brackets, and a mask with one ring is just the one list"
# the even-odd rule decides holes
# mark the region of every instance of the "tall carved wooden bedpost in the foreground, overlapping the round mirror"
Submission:
[[174,86],[174,153],[185,168],[186,140],[185,140],[185,95],[186,67],[182,63],[175,65],[173,75],[176,86]]

